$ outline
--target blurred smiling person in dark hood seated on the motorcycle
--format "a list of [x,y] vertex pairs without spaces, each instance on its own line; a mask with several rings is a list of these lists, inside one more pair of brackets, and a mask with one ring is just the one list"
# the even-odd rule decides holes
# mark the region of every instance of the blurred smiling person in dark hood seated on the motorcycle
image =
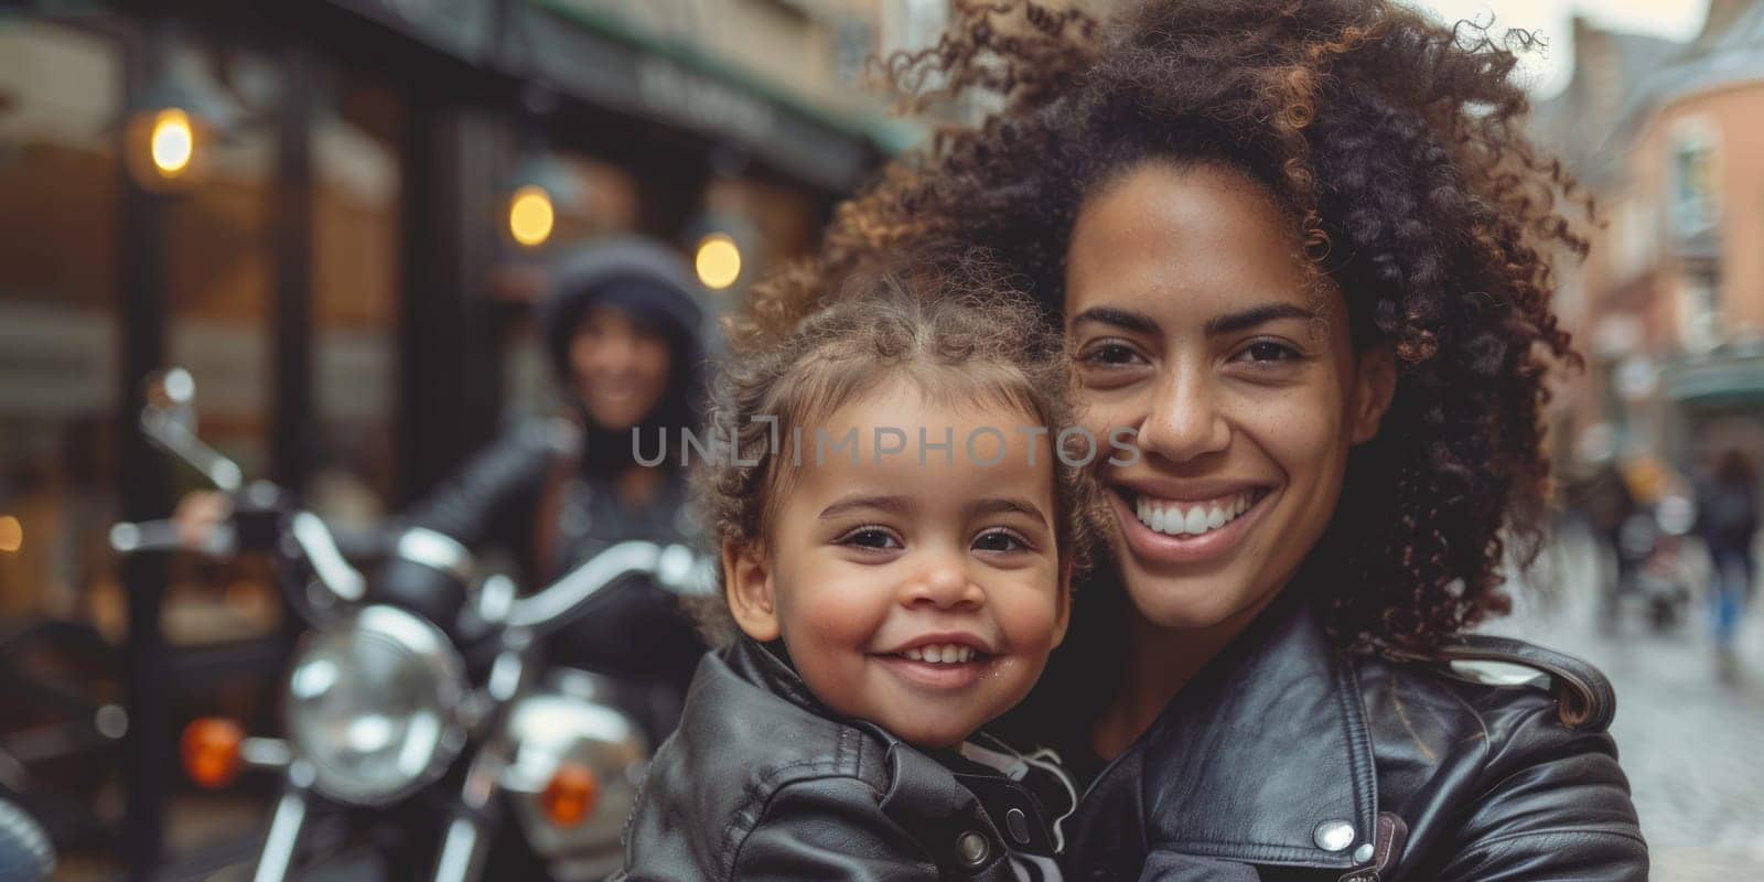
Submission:
[[[452,480],[400,517],[478,550],[497,547],[538,589],[624,540],[690,543],[686,476],[677,459],[637,462],[662,430],[677,437],[702,409],[702,312],[691,270],[639,238],[605,240],[557,258],[538,325],[566,393],[564,413],[503,432]],[[226,497],[192,494],[178,506],[187,543],[226,517]],[[393,559],[379,600],[453,632],[466,598],[457,582]],[[623,702],[665,737],[679,720],[704,644],[672,594],[646,579],[614,584],[596,616],[549,640],[549,662],[607,674]]]

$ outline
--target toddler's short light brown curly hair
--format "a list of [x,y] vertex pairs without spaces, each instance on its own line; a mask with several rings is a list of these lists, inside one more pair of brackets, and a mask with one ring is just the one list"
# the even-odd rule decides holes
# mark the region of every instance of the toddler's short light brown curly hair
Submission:
[[[981,252],[919,254],[856,273],[817,300],[820,309],[789,330],[755,333],[751,312],[732,321],[709,416],[711,436],[732,439],[732,455],[693,473],[699,519],[716,545],[764,547],[797,471],[794,434],[803,434],[799,450],[813,450],[818,423],[882,383],[907,381],[931,400],[1004,404],[1050,439],[1076,425],[1064,335]],[[1083,572],[1101,496],[1083,466],[1050,459],[1058,557]],[[713,646],[734,637],[721,596],[693,614]]]

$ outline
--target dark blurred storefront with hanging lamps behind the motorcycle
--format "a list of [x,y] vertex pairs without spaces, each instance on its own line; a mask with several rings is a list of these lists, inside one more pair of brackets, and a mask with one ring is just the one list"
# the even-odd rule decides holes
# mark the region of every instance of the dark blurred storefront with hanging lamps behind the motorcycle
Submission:
[[[166,134],[168,90],[213,106]],[[198,487],[134,430],[143,377],[187,367],[247,475],[372,522],[545,406],[510,282],[545,249],[737,213],[750,266],[801,252],[889,132],[572,4],[0,14],[0,619],[90,624],[131,714],[76,864],[145,877],[238,833],[178,824],[175,734],[270,718],[291,632],[259,563],[109,554]],[[536,152],[575,198],[529,249],[505,228]]]

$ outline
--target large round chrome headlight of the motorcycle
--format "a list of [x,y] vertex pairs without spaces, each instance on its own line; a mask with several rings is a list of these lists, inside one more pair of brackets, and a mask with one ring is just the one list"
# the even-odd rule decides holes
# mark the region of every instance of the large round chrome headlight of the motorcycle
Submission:
[[464,663],[439,628],[395,607],[360,609],[295,653],[288,729],[314,787],[385,804],[439,778],[466,743],[453,713]]

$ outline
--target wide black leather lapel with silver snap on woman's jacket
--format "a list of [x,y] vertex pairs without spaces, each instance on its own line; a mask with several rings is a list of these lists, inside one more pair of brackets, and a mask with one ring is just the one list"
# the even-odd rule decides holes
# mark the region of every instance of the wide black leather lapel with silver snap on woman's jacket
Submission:
[[1371,841],[1376,767],[1355,669],[1297,594],[1270,605],[1134,748],[1150,850],[1344,870]]

